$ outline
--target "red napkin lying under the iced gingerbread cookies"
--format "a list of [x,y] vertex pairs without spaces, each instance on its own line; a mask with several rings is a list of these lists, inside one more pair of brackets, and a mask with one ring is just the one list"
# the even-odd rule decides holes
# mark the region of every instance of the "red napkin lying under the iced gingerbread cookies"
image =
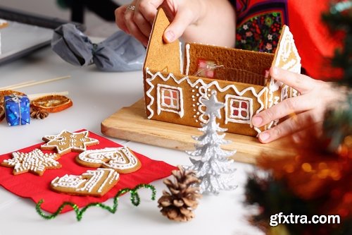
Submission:
[[[89,137],[96,138],[100,143],[99,145],[87,147],[88,150],[122,146],[92,132],[89,132]],[[21,150],[16,150],[13,152],[30,152],[34,150],[34,148],[40,149],[40,145],[42,144],[44,143],[25,147]],[[54,152],[49,150],[42,151]],[[5,155],[0,155],[0,162],[2,162],[4,159],[11,158],[11,153],[12,152],[9,152]],[[165,162],[149,159],[148,157],[145,157],[144,155],[141,155],[137,152],[134,153],[141,161],[142,167],[138,171],[134,171],[130,174],[120,174],[120,181],[118,181],[116,186],[101,198],[91,196],[75,196],[51,191],[50,183],[53,179],[56,178],[56,176],[64,176],[65,174],[80,175],[88,169],[94,169],[82,167],[77,164],[75,162],[75,157],[79,154],[77,152],[70,152],[68,154],[62,155],[61,158],[57,160],[62,165],[61,169],[47,169],[42,176],[37,176],[36,174],[32,173],[24,173],[15,176],[12,173],[13,168],[0,166],[0,185],[15,195],[32,199],[34,203],[38,203],[39,200],[44,199],[42,209],[53,213],[56,212],[58,207],[60,207],[60,205],[65,201],[75,203],[79,207],[84,207],[89,203],[101,203],[108,200],[109,198],[113,198],[122,188],[134,188],[139,183],[151,183],[157,179],[162,179],[170,176],[171,171],[173,169],[177,169],[176,167],[173,167],[172,165]],[[68,212],[69,210],[73,210],[73,208],[65,207],[63,212]]]

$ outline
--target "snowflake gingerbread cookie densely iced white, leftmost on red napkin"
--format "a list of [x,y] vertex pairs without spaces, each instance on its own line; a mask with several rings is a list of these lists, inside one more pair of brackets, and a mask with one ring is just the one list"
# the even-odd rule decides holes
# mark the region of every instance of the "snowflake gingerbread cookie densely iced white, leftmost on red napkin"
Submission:
[[13,152],[12,159],[5,159],[1,165],[13,167],[14,175],[31,172],[42,176],[46,169],[61,168],[61,164],[56,161],[59,157],[55,153],[44,154],[36,148],[32,152]]

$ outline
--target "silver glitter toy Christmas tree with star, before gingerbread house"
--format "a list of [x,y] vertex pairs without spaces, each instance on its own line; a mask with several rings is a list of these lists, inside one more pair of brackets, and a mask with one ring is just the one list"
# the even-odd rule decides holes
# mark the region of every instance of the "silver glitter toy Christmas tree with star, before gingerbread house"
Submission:
[[237,188],[234,185],[234,160],[229,159],[236,151],[222,150],[220,145],[230,143],[224,140],[225,133],[219,135],[218,132],[227,131],[225,128],[220,128],[216,122],[216,118],[221,118],[220,109],[225,105],[218,102],[216,92],[213,90],[209,100],[203,99],[203,104],[206,105],[205,115],[209,119],[199,131],[203,131],[201,136],[193,136],[197,140],[194,151],[187,151],[191,163],[187,169],[196,171],[196,175],[201,180],[199,188],[201,193],[218,194],[220,191],[230,191]]

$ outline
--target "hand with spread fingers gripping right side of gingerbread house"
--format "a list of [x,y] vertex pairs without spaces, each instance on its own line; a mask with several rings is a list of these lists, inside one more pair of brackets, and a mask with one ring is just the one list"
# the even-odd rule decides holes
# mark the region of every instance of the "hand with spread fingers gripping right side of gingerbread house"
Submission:
[[308,76],[277,67],[270,68],[270,76],[298,90],[301,95],[279,102],[270,109],[253,116],[253,126],[257,127],[264,126],[276,119],[291,116],[277,126],[260,133],[261,143],[269,143],[285,135],[296,133],[311,126],[312,122],[321,125],[327,107],[343,99],[341,96],[343,91],[334,88],[332,83],[314,80]]

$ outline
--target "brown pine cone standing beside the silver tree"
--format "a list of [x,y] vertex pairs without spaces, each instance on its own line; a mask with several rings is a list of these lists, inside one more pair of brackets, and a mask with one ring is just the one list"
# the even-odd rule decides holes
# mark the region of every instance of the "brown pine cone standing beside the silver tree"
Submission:
[[184,222],[194,218],[194,212],[198,206],[198,199],[201,198],[197,184],[200,180],[194,171],[187,171],[182,167],[180,170],[172,171],[175,181],[165,179],[164,183],[168,186],[170,193],[163,191],[163,195],[158,200],[158,207],[161,213],[169,219]]

